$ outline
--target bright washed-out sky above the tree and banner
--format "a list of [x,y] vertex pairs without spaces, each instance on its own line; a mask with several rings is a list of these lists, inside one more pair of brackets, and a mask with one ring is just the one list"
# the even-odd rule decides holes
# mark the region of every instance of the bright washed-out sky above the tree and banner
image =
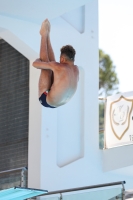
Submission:
[[133,0],[99,0],[99,48],[116,66],[120,91],[133,91]]

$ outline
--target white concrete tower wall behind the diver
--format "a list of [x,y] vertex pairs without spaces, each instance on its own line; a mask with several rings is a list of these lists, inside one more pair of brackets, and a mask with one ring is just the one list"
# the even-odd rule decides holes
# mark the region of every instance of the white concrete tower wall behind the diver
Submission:
[[[37,91],[39,70],[30,66],[29,187],[57,190],[126,180],[127,188],[132,188],[132,167],[104,172],[103,162],[107,160],[99,150],[97,3],[97,0],[88,1],[85,14],[82,8],[74,11],[74,16],[82,18],[76,27],[69,18],[72,10],[51,20],[51,40],[57,61],[62,45],[69,43],[77,52],[79,87],[68,104],[57,109],[42,107]],[[31,63],[38,57],[38,24],[0,15],[0,26],[0,37]],[[79,30],[85,31],[81,34]],[[113,157],[113,153],[110,155]]]

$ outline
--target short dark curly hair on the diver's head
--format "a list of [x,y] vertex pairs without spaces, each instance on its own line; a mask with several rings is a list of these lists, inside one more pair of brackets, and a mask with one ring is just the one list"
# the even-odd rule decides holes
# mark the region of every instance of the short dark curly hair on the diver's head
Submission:
[[74,61],[76,51],[71,45],[63,46],[61,49],[61,55],[66,55],[67,58],[71,61]]

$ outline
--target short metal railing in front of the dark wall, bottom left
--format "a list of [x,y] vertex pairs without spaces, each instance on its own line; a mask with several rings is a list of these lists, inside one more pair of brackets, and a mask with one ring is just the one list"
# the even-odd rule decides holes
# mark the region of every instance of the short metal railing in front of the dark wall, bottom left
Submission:
[[26,183],[25,183],[25,172],[28,170],[27,167],[21,167],[21,168],[16,168],[16,169],[10,169],[10,170],[5,170],[5,171],[1,171],[0,172],[0,176],[3,176],[3,175],[7,175],[7,174],[10,174],[10,173],[13,173],[13,172],[21,172],[21,175],[20,175],[20,186],[21,187],[26,187]]

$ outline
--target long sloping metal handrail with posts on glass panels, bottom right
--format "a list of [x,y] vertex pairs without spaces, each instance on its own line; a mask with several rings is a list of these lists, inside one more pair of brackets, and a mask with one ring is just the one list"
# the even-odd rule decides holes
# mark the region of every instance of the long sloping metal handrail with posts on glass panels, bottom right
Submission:
[[48,193],[40,195],[40,196],[60,194],[60,200],[62,200],[62,193],[75,192],[75,191],[81,191],[81,190],[89,190],[89,189],[96,189],[96,188],[116,186],[116,185],[122,185],[122,200],[125,200],[125,187],[124,187],[125,183],[126,183],[125,181],[119,181],[119,182],[92,185],[92,186],[85,186],[85,187],[78,187],[78,188],[72,188],[72,189],[66,189],[66,190],[57,190],[57,191],[48,192]]

